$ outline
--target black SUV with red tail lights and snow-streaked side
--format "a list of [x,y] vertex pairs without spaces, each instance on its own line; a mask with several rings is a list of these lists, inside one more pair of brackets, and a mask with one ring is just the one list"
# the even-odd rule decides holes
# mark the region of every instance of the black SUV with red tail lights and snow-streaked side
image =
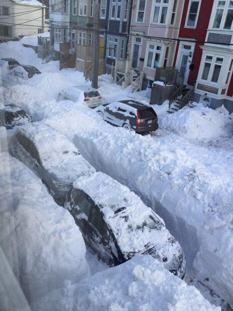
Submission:
[[136,100],[120,100],[104,104],[98,106],[96,111],[104,121],[136,133],[148,133],[158,129],[158,117],[155,111]]

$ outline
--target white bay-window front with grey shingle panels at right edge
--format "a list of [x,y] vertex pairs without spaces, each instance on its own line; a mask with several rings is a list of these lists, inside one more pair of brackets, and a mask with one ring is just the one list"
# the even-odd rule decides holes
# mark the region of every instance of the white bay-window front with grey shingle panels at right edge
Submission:
[[195,101],[233,112],[233,2],[214,0],[200,67]]

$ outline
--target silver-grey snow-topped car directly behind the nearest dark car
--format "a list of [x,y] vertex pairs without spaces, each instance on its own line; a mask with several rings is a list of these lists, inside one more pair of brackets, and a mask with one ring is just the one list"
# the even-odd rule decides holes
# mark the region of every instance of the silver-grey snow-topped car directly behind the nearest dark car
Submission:
[[60,205],[76,178],[95,172],[63,134],[46,124],[18,129],[11,151],[42,180]]

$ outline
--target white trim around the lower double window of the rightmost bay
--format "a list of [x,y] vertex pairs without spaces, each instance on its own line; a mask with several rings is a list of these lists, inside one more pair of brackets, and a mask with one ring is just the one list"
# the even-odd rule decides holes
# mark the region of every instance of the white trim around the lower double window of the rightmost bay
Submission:
[[[205,65],[205,59],[206,56],[212,56],[212,62],[210,65],[210,70],[209,70],[209,74],[208,74],[208,79],[207,80],[203,80],[202,79],[202,75],[203,75],[203,70],[204,70],[204,65]],[[223,58],[222,64],[221,64],[221,69],[220,69],[220,73],[219,73],[219,77],[218,77],[218,81],[217,82],[212,82],[212,76],[213,76],[213,71],[214,71],[214,66],[216,64],[216,58]],[[202,66],[199,69],[199,81],[204,83],[204,84],[209,84],[209,85],[213,85],[213,86],[217,86],[219,84],[219,80],[221,78],[221,74],[222,74],[222,68],[224,67],[224,61],[225,61],[225,56],[224,55],[218,55],[218,54],[212,54],[212,53],[204,53],[203,54],[203,59],[201,60]],[[227,71],[228,72],[228,71]],[[226,81],[226,79],[225,79]],[[225,85],[225,83],[223,83]]]

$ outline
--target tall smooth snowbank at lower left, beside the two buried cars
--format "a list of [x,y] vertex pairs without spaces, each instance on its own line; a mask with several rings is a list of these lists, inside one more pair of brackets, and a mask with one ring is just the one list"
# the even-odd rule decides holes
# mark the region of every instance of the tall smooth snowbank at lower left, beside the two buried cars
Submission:
[[[70,213],[57,206],[25,165],[4,152],[0,175],[0,244],[28,301],[64,286],[65,280],[76,283],[89,276],[85,243]],[[7,274],[0,279],[0,305],[10,310],[12,288],[4,284],[13,280]]]

